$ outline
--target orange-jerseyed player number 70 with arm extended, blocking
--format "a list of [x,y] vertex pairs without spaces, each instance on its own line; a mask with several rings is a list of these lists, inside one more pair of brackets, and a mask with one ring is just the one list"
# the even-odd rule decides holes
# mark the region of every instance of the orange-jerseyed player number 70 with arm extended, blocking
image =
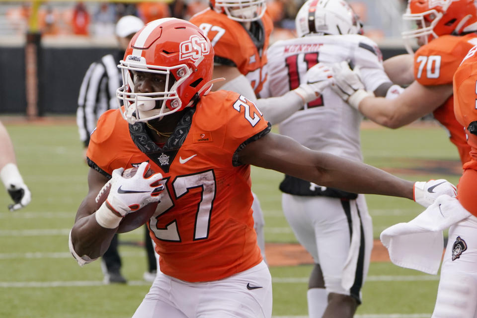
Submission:
[[[474,0],[409,0],[403,19],[416,22],[416,29],[402,35],[404,39],[417,38],[420,47],[414,54],[415,80],[397,98],[370,96],[345,65],[334,68],[336,85],[332,87],[367,118],[389,128],[432,113],[449,132],[465,163],[471,159],[470,147],[454,115],[452,77],[477,44],[477,4]],[[407,48],[412,50],[409,45]]]

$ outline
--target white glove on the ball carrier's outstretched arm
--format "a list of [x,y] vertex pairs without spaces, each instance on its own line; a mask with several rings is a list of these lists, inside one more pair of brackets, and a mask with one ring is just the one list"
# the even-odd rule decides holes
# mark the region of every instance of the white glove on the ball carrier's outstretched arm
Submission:
[[442,194],[455,197],[456,187],[446,179],[419,181],[414,183],[414,201],[424,207],[430,206]]

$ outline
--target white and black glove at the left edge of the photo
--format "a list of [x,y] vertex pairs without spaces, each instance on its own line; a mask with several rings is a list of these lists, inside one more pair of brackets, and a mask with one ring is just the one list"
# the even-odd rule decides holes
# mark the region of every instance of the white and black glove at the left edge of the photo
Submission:
[[13,204],[8,205],[8,210],[15,211],[28,205],[31,201],[31,192],[23,182],[23,178],[14,163],[7,163],[0,171],[0,178],[5,185]]

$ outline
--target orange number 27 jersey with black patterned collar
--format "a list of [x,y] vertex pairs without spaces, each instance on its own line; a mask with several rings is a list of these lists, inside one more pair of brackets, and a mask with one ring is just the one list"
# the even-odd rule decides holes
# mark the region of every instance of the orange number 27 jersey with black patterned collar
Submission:
[[201,98],[159,148],[146,125],[105,112],[87,150],[92,168],[110,175],[149,160],[165,190],[148,225],[164,274],[189,282],[228,277],[262,257],[253,229],[250,166],[238,151],[270,131],[255,105],[235,92]]

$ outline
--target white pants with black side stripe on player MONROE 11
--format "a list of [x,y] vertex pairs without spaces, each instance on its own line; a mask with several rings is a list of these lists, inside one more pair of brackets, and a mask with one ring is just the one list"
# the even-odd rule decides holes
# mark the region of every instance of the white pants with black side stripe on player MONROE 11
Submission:
[[326,292],[361,301],[369,269],[373,225],[363,195],[356,200],[282,194],[282,207],[298,241],[323,273]]

